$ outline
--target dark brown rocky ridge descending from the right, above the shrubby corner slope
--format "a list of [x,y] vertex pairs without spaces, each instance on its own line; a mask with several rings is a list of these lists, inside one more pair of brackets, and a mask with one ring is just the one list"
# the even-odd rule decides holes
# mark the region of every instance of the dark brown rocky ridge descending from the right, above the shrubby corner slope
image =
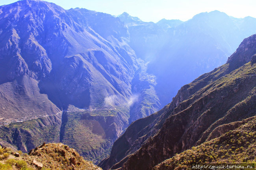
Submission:
[[228,132],[211,133],[223,124],[256,115],[255,54],[256,35],[252,35],[226,64],[183,86],[159,112],[133,122],[99,165],[150,170],[176,153]]

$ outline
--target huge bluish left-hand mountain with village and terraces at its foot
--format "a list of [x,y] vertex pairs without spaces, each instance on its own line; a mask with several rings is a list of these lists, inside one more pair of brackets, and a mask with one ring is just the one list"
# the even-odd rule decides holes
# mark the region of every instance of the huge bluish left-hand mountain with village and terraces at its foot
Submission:
[[[129,121],[156,112],[159,104],[128,39],[126,26],[105,13],[41,0],[1,6],[2,143],[26,152],[42,141],[61,141],[94,161],[108,154]],[[95,132],[92,122],[104,132]],[[74,130],[83,135],[72,140]]]

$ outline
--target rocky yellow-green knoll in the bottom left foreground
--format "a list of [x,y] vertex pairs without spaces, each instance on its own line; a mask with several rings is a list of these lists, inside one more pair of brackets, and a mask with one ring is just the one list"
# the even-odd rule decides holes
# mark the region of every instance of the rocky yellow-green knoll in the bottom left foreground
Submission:
[[2,170],[101,170],[62,143],[43,143],[29,154],[0,146],[0,159]]

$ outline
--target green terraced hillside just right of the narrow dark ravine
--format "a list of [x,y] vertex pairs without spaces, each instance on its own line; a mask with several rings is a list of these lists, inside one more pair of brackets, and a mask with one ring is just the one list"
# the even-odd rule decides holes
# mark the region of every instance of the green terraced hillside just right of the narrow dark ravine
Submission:
[[108,156],[113,144],[113,136],[110,136],[112,133],[108,129],[109,121],[117,112],[117,108],[71,109],[65,112],[67,122],[61,127],[61,142],[76,148],[88,160],[96,162],[103,159]]

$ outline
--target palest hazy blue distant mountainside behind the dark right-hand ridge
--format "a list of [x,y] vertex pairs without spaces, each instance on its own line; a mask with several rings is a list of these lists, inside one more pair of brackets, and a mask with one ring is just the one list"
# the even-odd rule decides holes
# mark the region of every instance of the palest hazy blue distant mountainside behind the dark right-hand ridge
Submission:
[[169,28],[165,24],[172,20],[154,24],[120,19],[129,28],[130,46],[149,62],[148,73],[156,76],[162,107],[181,86],[224,64],[244,38],[256,33],[255,18],[234,18],[219,11],[200,13]]

